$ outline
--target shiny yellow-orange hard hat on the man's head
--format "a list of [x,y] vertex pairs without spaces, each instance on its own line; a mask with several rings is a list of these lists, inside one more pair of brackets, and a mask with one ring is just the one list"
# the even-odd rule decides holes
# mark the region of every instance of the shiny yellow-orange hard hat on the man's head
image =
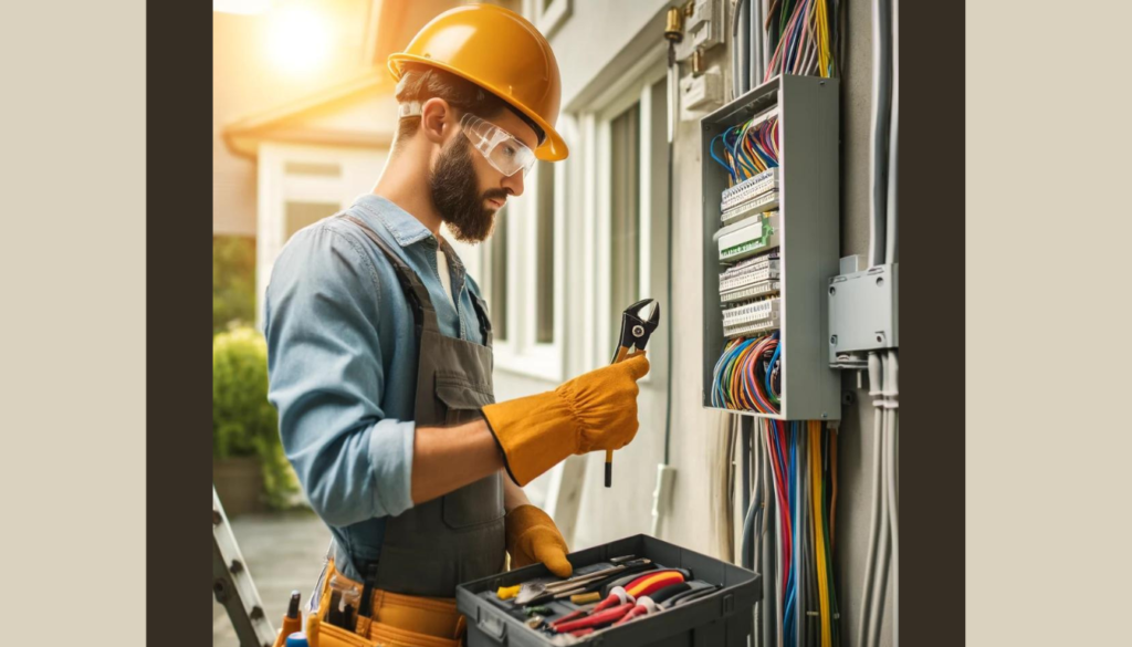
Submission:
[[526,114],[546,138],[534,156],[565,160],[566,142],[555,130],[561,79],[550,43],[518,14],[494,5],[468,5],[432,18],[401,53],[389,54],[393,78],[405,63],[447,70],[490,91]]

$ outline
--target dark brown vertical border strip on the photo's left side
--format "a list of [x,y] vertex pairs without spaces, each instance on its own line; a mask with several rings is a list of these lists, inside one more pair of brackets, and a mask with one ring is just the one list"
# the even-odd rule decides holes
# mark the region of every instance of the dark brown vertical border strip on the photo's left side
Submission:
[[199,647],[211,640],[212,31],[201,6],[146,11],[146,635]]

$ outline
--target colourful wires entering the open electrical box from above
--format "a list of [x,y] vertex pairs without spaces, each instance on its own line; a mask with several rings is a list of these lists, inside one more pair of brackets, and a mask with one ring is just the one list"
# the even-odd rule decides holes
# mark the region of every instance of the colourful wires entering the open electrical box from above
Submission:
[[835,0],[773,0],[766,12],[766,40],[774,54],[764,80],[779,74],[832,77],[837,74],[839,2]]

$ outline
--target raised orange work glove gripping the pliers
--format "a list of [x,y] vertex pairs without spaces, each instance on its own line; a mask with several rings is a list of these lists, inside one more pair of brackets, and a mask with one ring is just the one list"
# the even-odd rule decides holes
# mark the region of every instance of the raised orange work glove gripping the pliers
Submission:
[[554,391],[483,407],[512,479],[526,485],[571,454],[618,450],[637,431],[644,351],[578,375]]

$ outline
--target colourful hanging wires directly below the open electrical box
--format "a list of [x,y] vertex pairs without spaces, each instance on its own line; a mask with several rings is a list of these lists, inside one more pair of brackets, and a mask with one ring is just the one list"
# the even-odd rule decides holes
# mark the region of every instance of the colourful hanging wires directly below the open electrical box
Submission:
[[[838,647],[833,577],[838,496],[837,431],[822,423],[760,420],[778,514],[774,594],[779,645]],[[770,531],[769,528],[764,530]],[[767,573],[769,576],[770,573]]]

